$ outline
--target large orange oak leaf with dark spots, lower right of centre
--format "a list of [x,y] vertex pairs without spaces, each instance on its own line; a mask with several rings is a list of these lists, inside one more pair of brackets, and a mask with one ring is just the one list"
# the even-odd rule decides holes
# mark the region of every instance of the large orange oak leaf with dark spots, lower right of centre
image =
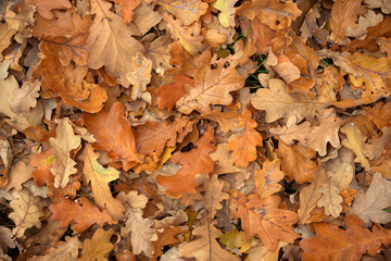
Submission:
[[278,209],[280,201],[278,196],[260,198],[258,195],[244,196],[234,191],[231,212],[235,219],[241,220],[245,240],[258,235],[267,249],[276,250],[278,240],[293,243],[299,237],[292,226],[299,221],[298,214]]

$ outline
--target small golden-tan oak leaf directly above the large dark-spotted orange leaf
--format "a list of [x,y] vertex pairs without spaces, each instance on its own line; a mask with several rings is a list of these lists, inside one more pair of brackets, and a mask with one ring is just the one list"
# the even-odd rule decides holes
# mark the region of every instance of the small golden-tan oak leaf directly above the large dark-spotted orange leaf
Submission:
[[283,172],[280,171],[281,160],[275,159],[272,162],[265,161],[262,170],[256,170],[254,173],[255,191],[261,198],[272,196],[281,189],[278,184],[283,177]]

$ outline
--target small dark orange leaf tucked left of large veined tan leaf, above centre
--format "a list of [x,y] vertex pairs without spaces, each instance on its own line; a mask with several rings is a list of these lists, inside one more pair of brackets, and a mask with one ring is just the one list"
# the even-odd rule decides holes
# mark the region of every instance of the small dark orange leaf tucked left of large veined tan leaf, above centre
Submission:
[[157,89],[157,104],[160,109],[167,109],[173,111],[175,102],[177,102],[185,95],[185,84],[193,85],[194,80],[182,75],[175,74],[175,82],[169,85],[162,85]]

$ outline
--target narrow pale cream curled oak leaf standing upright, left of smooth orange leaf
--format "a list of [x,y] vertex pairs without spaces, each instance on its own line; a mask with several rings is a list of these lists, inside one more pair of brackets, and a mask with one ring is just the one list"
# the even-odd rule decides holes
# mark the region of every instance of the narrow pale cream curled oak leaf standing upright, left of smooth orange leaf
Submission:
[[76,162],[71,159],[70,152],[80,146],[80,136],[75,135],[67,119],[63,119],[55,128],[55,138],[49,138],[54,149],[55,161],[50,169],[54,176],[54,187],[64,188],[70,182],[70,176],[75,174]]

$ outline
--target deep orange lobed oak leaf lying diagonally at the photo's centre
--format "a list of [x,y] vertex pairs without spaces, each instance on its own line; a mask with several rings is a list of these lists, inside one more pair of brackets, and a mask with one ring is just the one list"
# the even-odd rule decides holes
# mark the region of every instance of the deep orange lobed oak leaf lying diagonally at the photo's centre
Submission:
[[156,176],[157,183],[166,187],[164,194],[174,198],[179,198],[186,192],[195,194],[194,188],[198,185],[195,177],[200,175],[203,181],[209,179],[214,169],[210,153],[216,150],[216,147],[212,145],[213,135],[213,129],[209,128],[200,139],[193,142],[195,149],[173,154],[172,162],[182,166],[173,176]]

